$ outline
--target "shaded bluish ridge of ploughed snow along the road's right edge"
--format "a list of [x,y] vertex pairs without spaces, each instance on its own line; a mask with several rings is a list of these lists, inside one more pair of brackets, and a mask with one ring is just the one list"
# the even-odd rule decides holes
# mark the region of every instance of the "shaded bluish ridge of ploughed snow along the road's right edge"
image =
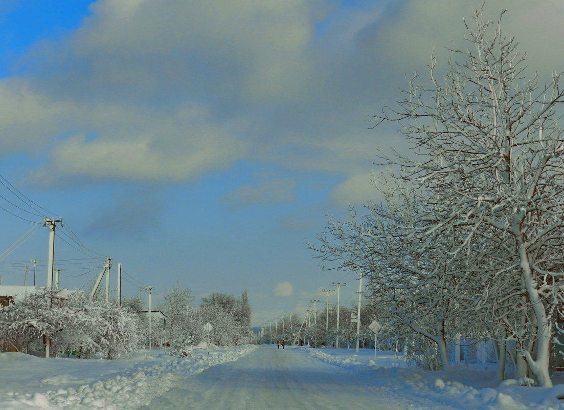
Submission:
[[527,386],[530,384],[527,380],[506,380],[499,385],[492,382],[492,387],[479,387],[484,382],[476,382],[472,386],[471,382],[465,381],[472,371],[468,368],[453,369],[448,376],[442,376],[441,372],[374,367],[370,365],[374,363],[373,360],[368,360],[368,363],[351,360],[351,354],[347,351],[333,350],[327,354],[316,349],[305,350],[325,363],[368,373],[374,384],[402,391],[414,400],[429,399],[461,410],[564,410],[564,385],[544,389]]

